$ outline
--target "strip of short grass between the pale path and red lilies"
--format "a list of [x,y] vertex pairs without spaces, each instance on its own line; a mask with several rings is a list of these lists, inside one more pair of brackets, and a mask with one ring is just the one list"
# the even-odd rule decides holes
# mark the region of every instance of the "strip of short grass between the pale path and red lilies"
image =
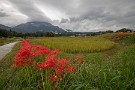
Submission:
[[1,90],[9,89],[10,87],[8,85],[10,81],[12,79],[17,78],[15,76],[17,71],[16,71],[16,68],[14,67],[14,60],[15,60],[15,55],[17,51],[20,49],[19,46],[20,46],[19,44],[15,45],[12,51],[0,61],[0,88]]

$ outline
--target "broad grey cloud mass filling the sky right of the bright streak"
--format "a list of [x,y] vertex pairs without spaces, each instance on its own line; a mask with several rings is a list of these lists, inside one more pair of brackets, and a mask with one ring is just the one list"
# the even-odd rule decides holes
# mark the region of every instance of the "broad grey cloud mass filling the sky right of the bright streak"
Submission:
[[59,25],[75,31],[94,30],[92,23],[104,30],[109,27],[135,28],[134,3],[135,0],[57,0],[56,2],[44,0],[44,4],[55,7],[69,16],[70,22],[63,23],[62,19]]

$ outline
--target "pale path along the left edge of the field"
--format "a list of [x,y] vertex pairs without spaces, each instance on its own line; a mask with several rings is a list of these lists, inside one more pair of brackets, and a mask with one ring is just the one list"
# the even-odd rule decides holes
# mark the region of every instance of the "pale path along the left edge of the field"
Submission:
[[0,46],[0,60],[11,51],[12,47],[16,44],[17,42],[9,43],[3,46]]

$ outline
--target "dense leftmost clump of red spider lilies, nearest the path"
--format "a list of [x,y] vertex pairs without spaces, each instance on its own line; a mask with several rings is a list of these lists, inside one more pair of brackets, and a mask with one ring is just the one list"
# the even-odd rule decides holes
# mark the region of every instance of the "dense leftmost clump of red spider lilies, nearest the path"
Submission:
[[30,65],[31,61],[28,61],[30,58],[35,58],[43,54],[49,54],[50,52],[51,50],[47,49],[46,47],[30,44],[29,40],[23,40],[22,49],[19,50],[18,54],[16,55],[16,66]]

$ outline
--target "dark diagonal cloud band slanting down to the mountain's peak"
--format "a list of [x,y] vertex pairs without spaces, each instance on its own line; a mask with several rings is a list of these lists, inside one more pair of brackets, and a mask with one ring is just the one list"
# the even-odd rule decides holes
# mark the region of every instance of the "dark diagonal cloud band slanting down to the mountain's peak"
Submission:
[[28,21],[45,21],[50,22],[41,10],[39,10],[32,0],[9,0],[13,6],[18,9],[22,14],[28,17]]

